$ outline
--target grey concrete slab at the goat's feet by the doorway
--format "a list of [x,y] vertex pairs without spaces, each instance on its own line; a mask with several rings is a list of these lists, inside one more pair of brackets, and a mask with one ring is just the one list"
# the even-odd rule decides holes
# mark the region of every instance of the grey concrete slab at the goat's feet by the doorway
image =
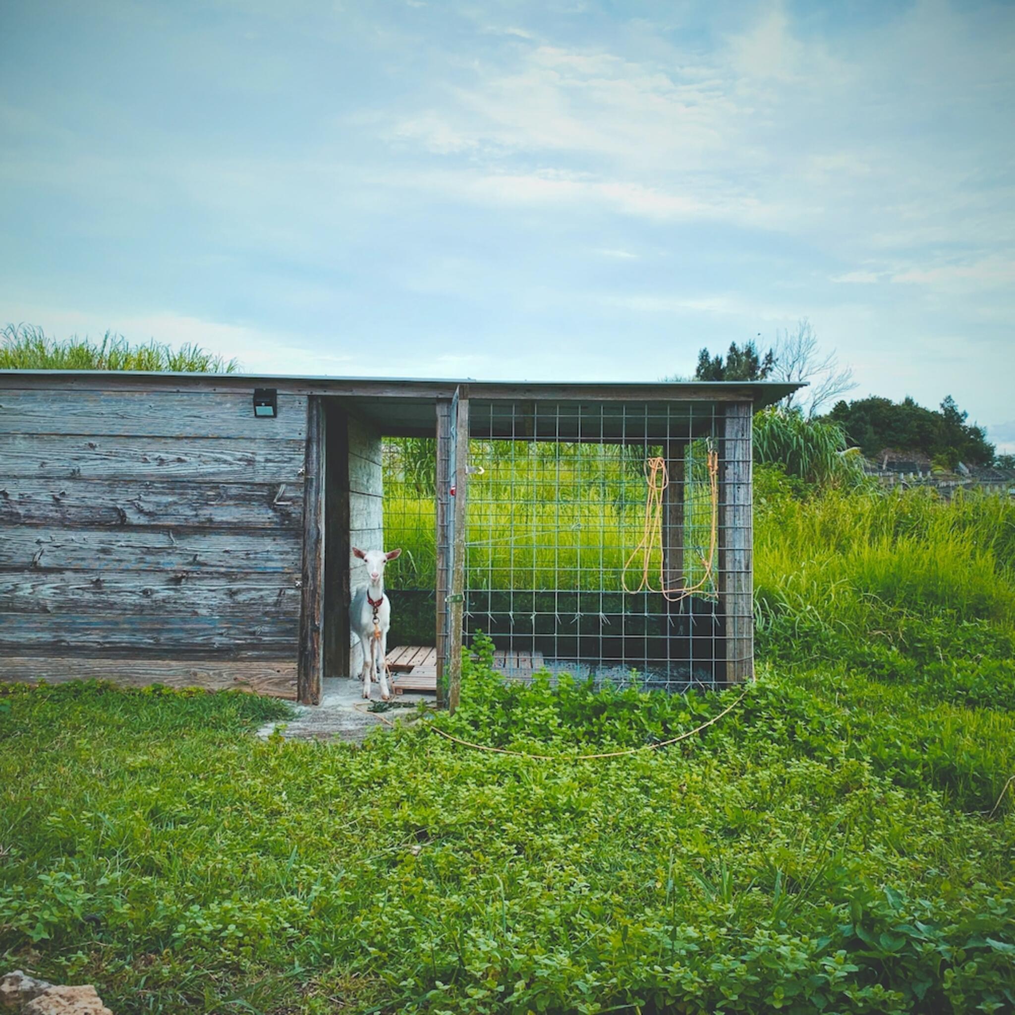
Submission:
[[[388,722],[399,717],[413,715],[413,708],[395,707],[388,712],[370,713],[367,707],[381,700],[381,689],[377,684],[370,688],[370,700],[363,697],[363,685],[359,680],[345,677],[326,678],[322,682],[321,703],[318,705],[293,705],[295,716],[284,723],[272,720],[265,723],[257,735],[262,740],[271,736],[276,726],[285,726],[282,736],[286,740],[349,740],[359,742],[375,727],[383,726],[379,716]],[[415,705],[417,701],[433,701],[432,694],[393,694],[396,705]]]

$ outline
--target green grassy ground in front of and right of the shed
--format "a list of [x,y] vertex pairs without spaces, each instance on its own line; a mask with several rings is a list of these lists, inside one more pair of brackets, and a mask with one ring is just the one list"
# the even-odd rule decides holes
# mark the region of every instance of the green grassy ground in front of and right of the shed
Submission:
[[1015,509],[759,480],[759,680],[674,748],[566,760],[739,691],[505,688],[480,646],[436,722],[532,761],[5,688],[4,967],[118,1013],[1015,1010]]

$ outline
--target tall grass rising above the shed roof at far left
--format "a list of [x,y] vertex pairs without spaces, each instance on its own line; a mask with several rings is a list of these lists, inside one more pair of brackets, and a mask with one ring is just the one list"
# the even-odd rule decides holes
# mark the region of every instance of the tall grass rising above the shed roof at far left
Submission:
[[0,330],[0,369],[232,374],[238,368],[235,359],[193,344],[174,349],[152,339],[133,345],[123,335],[109,331],[100,341],[77,336],[60,340],[28,324],[8,324]]

